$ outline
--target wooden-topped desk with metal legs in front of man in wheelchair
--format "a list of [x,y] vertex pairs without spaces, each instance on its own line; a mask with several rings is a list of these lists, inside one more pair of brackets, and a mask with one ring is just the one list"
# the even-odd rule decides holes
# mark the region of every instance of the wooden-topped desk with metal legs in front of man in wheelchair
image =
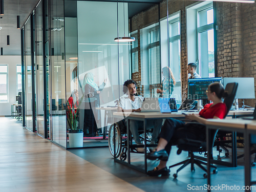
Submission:
[[[191,112],[184,112],[184,113],[188,113],[188,114],[191,114]],[[132,113],[120,113],[120,112],[116,112],[116,113],[113,113],[114,115],[114,118],[124,118],[126,117],[127,119],[127,123],[126,123],[126,128],[127,128],[127,131],[126,133],[129,133],[129,121],[130,120],[138,120],[138,121],[143,121],[144,122],[144,135],[146,133],[146,122],[147,120],[149,119],[165,119],[165,118],[177,118],[177,119],[184,119],[185,118],[185,115],[179,113],[179,112],[173,112],[173,113],[159,113],[159,112],[147,112],[147,113],[138,113],[138,112],[132,112]],[[130,143],[130,134],[127,134],[127,162],[126,161],[121,161],[117,158],[114,158],[114,161],[115,162],[119,162],[119,163],[122,163],[124,165],[127,165],[129,167],[132,167],[136,170],[139,170],[140,172],[143,172],[143,173],[147,173],[147,161],[146,161],[146,147],[147,146],[153,146],[153,145],[147,145],[146,144],[146,137],[144,137],[144,145],[136,145],[138,147],[144,147],[144,169],[143,168],[139,168],[135,165],[132,165],[131,164],[131,156],[130,156],[130,147],[132,146],[131,143]],[[115,147],[115,144],[114,144],[114,147]],[[115,148],[114,148],[114,151]]]

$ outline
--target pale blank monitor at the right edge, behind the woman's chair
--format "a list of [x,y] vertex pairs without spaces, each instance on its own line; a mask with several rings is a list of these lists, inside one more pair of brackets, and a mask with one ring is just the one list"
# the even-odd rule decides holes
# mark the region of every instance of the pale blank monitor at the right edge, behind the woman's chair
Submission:
[[237,82],[238,90],[236,94],[236,99],[254,99],[254,78],[253,77],[224,77],[223,86],[229,82]]

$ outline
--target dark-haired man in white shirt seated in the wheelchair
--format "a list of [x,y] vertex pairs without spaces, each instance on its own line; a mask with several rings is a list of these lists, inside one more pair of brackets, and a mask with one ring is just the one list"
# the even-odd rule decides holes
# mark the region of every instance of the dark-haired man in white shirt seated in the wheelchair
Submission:
[[[137,112],[141,110],[141,105],[144,98],[142,96],[136,96],[136,90],[137,90],[137,84],[134,80],[130,79],[124,82],[123,93],[125,93],[127,97],[120,98],[118,108],[117,108],[118,112]],[[142,144],[139,137],[138,130],[141,130],[141,131],[143,130],[143,127],[144,127],[143,121],[130,120],[129,126],[136,144],[138,145]],[[157,141],[157,137],[160,132],[161,126],[162,126],[162,119],[147,120],[146,129],[150,130],[154,128],[150,144],[155,144],[155,142]],[[144,152],[144,149],[137,148],[137,151]]]

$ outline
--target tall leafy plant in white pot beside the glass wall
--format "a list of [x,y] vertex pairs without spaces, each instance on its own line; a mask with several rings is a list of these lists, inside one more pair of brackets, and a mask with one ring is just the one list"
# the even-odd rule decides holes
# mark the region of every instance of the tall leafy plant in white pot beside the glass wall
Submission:
[[78,114],[79,108],[82,103],[83,96],[78,102],[76,108],[75,104],[72,102],[72,106],[67,100],[67,121],[70,127],[69,130],[69,146],[70,147],[82,147],[83,146],[83,130],[78,127]]

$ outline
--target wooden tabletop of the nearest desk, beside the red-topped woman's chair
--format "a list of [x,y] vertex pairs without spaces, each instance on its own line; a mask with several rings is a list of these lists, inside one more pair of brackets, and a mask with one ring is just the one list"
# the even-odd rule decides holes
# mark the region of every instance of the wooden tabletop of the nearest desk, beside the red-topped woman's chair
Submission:
[[206,125],[226,126],[245,129],[245,125],[251,122],[252,120],[246,119],[208,119]]

